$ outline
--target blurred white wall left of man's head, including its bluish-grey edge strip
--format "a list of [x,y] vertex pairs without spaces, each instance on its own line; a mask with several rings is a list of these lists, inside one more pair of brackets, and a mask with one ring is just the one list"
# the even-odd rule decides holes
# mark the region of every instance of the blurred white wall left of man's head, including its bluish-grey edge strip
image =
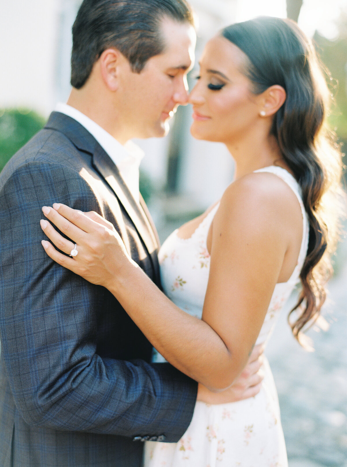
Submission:
[[0,0],[0,107],[47,117],[70,92],[71,25],[79,0]]

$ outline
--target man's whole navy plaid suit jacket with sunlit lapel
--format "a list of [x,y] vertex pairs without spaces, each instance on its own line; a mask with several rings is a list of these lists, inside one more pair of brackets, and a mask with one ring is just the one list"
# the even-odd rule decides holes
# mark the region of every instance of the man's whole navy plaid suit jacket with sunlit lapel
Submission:
[[197,384],[149,363],[113,295],[45,254],[41,207],[54,202],[111,221],[159,285],[145,205],[84,127],[52,113],[0,174],[0,465],[141,466],[141,440],[183,435]]

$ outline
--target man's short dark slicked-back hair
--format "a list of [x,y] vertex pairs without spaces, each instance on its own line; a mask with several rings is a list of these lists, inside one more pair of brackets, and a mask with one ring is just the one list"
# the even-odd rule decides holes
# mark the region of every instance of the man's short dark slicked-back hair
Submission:
[[164,50],[160,24],[165,17],[194,25],[185,0],[84,0],[72,27],[71,85],[80,89],[109,47],[120,50],[140,73]]

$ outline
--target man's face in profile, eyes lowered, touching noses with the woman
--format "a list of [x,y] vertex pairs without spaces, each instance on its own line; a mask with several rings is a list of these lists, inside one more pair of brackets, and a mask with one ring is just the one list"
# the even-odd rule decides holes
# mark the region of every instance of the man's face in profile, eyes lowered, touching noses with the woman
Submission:
[[177,107],[188,100],[186,76],[194,62],[194,28],[166,18],[161,31],[163,53],[151,57],[141,73],[132,72],[127,63],[120,76],[120,123],[128,139],[164,136]]

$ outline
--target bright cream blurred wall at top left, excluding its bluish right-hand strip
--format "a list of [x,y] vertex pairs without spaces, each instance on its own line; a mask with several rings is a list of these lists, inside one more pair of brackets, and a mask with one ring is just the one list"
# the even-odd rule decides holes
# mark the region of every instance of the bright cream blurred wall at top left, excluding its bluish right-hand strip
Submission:
[[53,105],[58,0],[0,0],[0,106]]

